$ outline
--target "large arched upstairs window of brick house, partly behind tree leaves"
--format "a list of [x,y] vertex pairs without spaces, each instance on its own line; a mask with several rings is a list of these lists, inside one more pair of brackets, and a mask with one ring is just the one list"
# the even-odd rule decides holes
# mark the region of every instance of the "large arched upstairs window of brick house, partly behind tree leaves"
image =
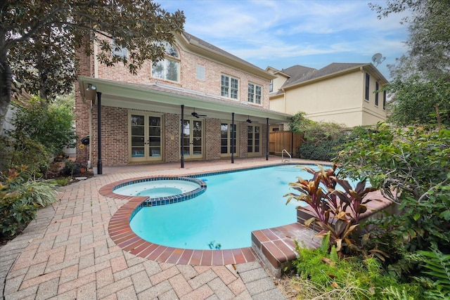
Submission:
[[165,42],[166,57],[163,60],[153,63],[152,77],[179,81],[180,62],[178,51],[171,44]]

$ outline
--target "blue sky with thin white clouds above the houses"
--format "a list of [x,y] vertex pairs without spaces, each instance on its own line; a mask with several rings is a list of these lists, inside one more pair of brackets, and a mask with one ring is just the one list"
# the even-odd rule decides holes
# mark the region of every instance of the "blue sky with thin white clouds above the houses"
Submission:
[[389,80],[387,65],[406,53],[406,14],[378,20],[368,6],[384,0],[155,1],[170,13],[184,11],[186,32],[262,69],[372,63],[381,53],[377,68]]

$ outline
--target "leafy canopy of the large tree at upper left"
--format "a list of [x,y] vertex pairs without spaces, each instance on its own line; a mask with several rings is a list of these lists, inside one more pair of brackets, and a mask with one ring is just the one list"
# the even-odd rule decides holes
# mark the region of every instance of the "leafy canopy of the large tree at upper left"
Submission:
[[[183,30],[184,14],[167,13],[149,0],[4,0],[0,2],[0,127],[11,103],[13,80],[47,100],[70,91],[76,77],[75,50],[106,65],[124,63],[136,74],[146,60],[165,54]],[[108,39],[105,39],[107,37]],[[127,48],[128,56],[113,54]]]

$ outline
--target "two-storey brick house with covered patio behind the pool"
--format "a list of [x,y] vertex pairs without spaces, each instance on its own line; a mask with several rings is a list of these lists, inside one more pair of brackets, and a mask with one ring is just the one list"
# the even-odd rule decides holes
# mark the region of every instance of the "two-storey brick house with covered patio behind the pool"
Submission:
[[[79,53],[77,136],[89,136],[90,144],[80,150],[79,141],[77,161],[99,166],[181,162],[184,167],[185,159],[268,155],[267,128],[290,117],[269,110],[274,75],[186,32],[165,46],[165,59],[148,61],[137,75],[124,65],[106,67]],[[121,54],[126,56],[127,49]]]

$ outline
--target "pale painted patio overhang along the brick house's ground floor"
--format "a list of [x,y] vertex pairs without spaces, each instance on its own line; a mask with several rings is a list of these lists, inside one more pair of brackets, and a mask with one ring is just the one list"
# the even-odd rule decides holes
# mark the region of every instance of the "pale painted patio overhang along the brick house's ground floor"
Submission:
[[207,115],[208,118],[230,119],[231,113],[234,112],[236,122],[245,122],[250,118],[255,122],[266,123],[268,119],[269,124],[290,122],[292,117],[244,101],[225,100],[220,96],[159,82],[131,84],[92,77],[78,77],[78,84],[82,99],[86,103],[91,101],[91,99],[86,99],[86,89],[89,84],[95,85],[96,91],[101,92],[101,105],[103,106],[136,110],[155,110],[155,107],[158,107],[158,112],[180,114],[180,106],[184,105],[186,115],[190,115],[195,108],[195,112]]

